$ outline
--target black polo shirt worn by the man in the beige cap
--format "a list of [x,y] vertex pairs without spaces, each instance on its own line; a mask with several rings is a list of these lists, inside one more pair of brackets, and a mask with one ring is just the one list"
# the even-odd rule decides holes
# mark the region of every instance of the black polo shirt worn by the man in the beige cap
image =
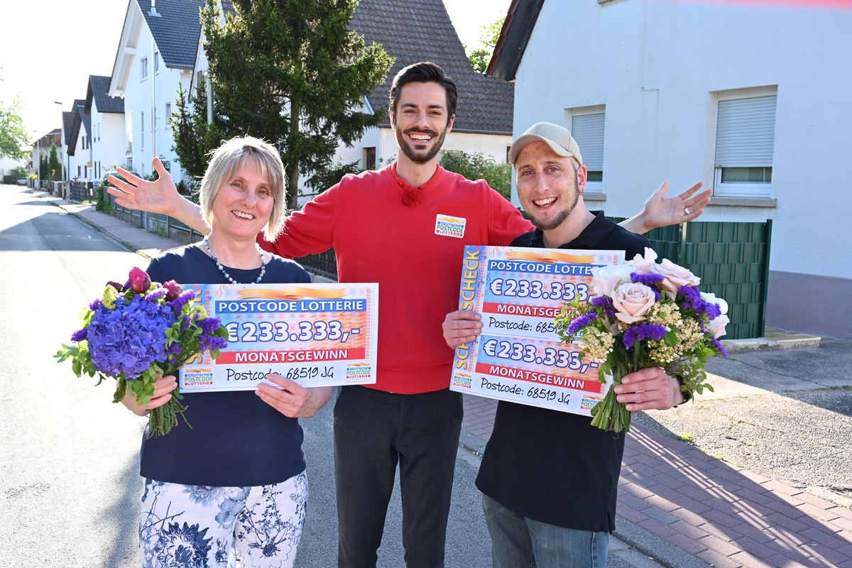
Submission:
[[[512,246],[544,248],[536,229]],[[580,235],[560,249],[625,250],[651,247],[640,235],[596,212]],[[500,401],[476,486],[528,519],[581,531],[615,529],[615,504],[625,433],[591,426],[589,416]]]

